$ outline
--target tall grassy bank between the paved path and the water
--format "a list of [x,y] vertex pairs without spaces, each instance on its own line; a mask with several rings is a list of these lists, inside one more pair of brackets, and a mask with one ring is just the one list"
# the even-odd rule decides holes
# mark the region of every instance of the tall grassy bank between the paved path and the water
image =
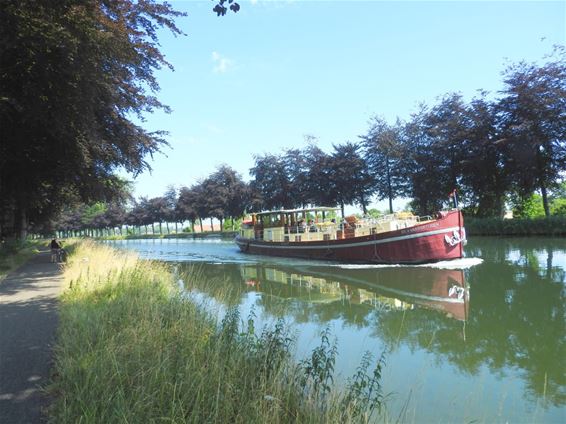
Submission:
[[88,243],[69,250],[52,422],[365,422],[381,409],[383,358],[366,356],[338,393],[328,331],[296,364],[284,322],[257,331],[237,309],[217,322],[164,264]]

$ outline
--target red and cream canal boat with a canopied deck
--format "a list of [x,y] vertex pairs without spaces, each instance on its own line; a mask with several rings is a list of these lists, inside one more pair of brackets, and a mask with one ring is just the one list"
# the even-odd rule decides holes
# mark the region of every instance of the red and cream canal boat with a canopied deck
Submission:
[[418,217],[338,218],[317,207],[260,212],[244,221],[235,242],[242,252],[346,263],[420,264],[459,259],[466,241],[458,209]]

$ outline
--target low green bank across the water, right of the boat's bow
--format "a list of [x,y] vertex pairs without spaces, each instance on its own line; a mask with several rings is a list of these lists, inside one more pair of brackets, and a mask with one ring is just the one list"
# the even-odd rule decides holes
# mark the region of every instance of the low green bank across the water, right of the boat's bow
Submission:
[[500,219],[464,218],[470,236],[563,236],[566,235],[566,217]]

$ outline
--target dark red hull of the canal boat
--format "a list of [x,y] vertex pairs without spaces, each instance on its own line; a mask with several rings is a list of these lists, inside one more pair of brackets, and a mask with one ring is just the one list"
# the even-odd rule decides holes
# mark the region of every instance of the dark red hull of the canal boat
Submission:
[[257,255],[376,264],[418,264],[463,256],[464,221],[459,210],[413,227],[339,240],[272,242],[236,237],[240,250]]

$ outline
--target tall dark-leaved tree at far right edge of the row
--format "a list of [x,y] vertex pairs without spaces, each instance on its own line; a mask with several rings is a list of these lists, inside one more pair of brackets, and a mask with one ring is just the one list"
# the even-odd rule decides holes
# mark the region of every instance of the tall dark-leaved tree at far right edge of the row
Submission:
[[543,66],[520,62],[504,72],[499,103],[507,147],[506,167],[517,189],[527,196],[540,190],[550,216],[548,190],[566,169],[566,52],[554,51]]

